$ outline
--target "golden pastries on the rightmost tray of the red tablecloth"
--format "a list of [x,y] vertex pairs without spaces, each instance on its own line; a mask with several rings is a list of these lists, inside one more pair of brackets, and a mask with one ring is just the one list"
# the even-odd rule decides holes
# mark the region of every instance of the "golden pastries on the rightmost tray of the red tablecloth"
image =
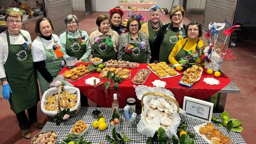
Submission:
[[197,65],[193,65],[183,72],[181,81],[185,84],[193,85],[198,77],[201,77],[203,68]]

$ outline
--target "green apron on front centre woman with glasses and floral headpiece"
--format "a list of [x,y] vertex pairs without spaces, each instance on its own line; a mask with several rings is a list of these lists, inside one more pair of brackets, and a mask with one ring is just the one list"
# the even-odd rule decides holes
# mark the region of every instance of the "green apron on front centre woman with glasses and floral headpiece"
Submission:
[[128,44],[133,45],[134,48],[131,50],[131,52],[128,52],[125,47],[123,60],[130,61],[130,62],[147,63],[146,48],[141,49],[138,43],[130,43],[130,33],[128,33],[128,37],[127,37],[127,45]]

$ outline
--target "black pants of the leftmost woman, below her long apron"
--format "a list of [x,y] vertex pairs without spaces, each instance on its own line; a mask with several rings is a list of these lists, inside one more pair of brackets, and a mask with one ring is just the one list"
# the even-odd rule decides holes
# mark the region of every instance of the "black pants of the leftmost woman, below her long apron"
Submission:
[[21,130],[27,130],[30,128],[30,124],[37,122],[37,105],[27,109],[28,118],[25,113],[25,110],[20,111],[20,113],[16,114],[16,117],[19,122],[19,127]]

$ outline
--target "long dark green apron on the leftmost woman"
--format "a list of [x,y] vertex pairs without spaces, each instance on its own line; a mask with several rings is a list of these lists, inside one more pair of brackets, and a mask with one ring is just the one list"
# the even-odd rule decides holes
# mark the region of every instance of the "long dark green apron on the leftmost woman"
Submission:
[[[31,51],[24,50],[22,44],[11,45],[8,31],[6,31],[6,36],[9,53],[4,69],[12,90],[9,99],[10,106],[17,114],[37,105],[40,98]],[[28,41],[25,36],[23,38]]]

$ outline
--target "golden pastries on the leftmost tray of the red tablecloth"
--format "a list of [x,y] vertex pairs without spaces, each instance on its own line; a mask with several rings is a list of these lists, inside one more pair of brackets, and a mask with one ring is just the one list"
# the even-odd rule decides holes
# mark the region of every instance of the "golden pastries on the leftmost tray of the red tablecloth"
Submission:
[[65,70],[64,77],[66,79],[71,79],[72,81],[76,81],[79,77],[84,76],[85,74],[90,73],[91,71],[87,69],[86,66],[80,65],[78,67],[75,67],[71,70]]

